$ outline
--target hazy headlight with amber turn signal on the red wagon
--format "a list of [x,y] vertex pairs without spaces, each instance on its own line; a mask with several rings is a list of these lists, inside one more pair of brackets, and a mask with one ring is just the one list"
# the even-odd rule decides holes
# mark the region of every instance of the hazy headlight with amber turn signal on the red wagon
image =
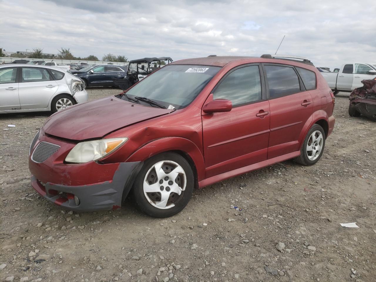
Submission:
[[128,138],[100,139],[78,143],[68,153],[66,162],[82,164],[89,161],[97,161],[114,152],[126,143]]

